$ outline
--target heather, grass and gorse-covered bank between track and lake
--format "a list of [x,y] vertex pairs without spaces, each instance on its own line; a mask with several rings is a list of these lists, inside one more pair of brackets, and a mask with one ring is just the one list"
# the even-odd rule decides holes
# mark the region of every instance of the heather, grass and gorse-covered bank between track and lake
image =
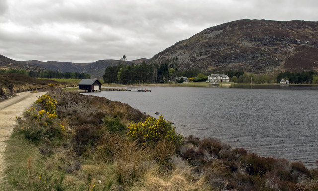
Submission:
[[50,91],[17,117],[5,190],[315,191],[318,170],[183,138],[163,116],[102,97]]

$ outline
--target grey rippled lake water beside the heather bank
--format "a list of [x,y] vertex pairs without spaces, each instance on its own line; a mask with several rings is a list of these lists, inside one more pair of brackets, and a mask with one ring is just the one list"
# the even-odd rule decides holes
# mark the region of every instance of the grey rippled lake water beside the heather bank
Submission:
[[263,88],[151,87],[148,93],[86,94],[128,103],[154,117],[159,112],[184,136],[216,137],[260,156],[318,167],[318,87]]

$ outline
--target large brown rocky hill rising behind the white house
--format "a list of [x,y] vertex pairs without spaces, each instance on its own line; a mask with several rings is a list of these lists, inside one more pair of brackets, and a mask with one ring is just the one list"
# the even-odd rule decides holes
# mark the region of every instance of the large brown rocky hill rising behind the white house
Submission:
[[243,70],[275,74],[318,71],[318,22],[238,20],[207,28],[156,54],[177,57],[181,69]]

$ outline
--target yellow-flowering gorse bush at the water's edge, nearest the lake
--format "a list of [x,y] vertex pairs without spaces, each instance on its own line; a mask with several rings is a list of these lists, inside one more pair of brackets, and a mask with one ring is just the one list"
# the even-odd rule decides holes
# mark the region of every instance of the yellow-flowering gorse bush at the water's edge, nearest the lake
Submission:
[[175,127],[161,115],[159,119],[148,117],[145,122],[130,124],[128,137],[140,143],[156,143],[167,140],[175,145],[182,143],[182,136],[176,133]]

